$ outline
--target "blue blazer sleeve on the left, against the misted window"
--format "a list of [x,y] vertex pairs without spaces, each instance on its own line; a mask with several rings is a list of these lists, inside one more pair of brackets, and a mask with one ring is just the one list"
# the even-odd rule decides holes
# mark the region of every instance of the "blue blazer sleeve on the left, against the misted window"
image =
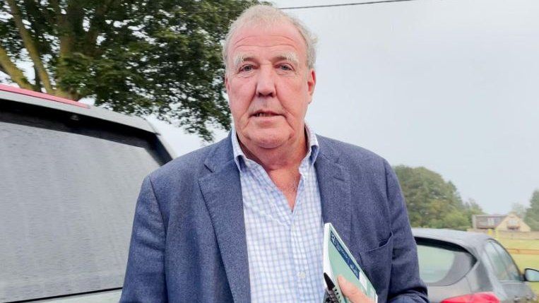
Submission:
[[136,203],[120,303],[167,302],[164,252],[165,227],[148,176]]

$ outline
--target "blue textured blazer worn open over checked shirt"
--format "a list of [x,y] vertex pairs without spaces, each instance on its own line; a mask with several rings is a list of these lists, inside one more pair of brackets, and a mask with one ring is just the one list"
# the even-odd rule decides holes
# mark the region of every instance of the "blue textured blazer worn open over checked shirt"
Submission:
[[[379,302],[428,302],[390,165],[357,146],[318,139],[324,222],[336,227]],[[251,302],[242,189],[230,136],[144,179],[120,302]]]

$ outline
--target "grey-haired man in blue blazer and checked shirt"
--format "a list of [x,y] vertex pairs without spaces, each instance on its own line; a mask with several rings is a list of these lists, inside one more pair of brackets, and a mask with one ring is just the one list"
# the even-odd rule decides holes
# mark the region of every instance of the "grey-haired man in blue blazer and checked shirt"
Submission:
[[[332,222],[379,301],[427,302],[395,174],[373,153],[316,136],[314,38],[254,6],[223,47],[234,129],[146,177],[121,302],[321,302]],[[369,300],[343,279],[353,303]]]

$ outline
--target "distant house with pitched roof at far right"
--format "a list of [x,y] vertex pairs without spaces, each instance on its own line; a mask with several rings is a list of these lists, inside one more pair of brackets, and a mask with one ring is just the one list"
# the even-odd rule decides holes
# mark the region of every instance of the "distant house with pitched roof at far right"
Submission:
[[473,215],[474,230],[497,230],[505,232],[530,232],[531,228],[517,215]]

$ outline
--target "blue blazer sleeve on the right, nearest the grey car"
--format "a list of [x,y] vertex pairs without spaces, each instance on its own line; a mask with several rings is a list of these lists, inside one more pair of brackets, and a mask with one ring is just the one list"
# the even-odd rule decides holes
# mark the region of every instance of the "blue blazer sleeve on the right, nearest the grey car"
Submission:
[[417,246],[410,228],[401,186],[399,186],[397,176],[389,163],[384,160],[384,165],[391,215],[391,232],[393,232],[394,237],[388,302],[428,303],[427,287],[419,276]]

